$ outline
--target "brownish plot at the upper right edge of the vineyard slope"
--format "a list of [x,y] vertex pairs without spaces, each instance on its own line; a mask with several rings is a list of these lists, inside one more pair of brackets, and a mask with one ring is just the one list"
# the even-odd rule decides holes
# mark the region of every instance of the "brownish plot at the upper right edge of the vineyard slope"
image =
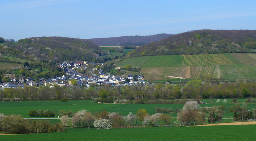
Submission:
[[246,65],[256,65],[256,60],[250,57],[255,56],[255,54],[232,54],[232,56]]

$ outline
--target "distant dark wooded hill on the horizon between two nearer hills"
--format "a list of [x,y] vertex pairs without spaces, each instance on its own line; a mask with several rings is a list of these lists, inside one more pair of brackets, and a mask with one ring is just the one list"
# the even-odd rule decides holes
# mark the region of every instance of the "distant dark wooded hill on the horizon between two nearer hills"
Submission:
[[122,37],[112,37],[112,38],[94,38],[88,39],[98,46],[124,46],[124,45],[134,45],[141,46],[150,42],[156,42],[172,36],[172,34],[156,34],[150,36],[122,36]]

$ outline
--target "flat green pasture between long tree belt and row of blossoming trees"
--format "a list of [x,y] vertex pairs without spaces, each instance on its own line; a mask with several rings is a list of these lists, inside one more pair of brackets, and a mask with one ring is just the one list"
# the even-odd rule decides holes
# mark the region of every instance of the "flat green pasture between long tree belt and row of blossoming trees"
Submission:
[[[212,103],[210,102],[212,100]],[[232,99],[227,99],[228,103],[216,103],[217,99],[202,99],[203,102],[208,104],[200,104],[200,107],[212,107],[214,105],[225,105],[226,107],[231,107],[236,105],[236,103],[231,103]],[[240,106],[246,99],[237,99],[240,102]],[[246,103],[249,109],[256,107],[256,103]],[[100,112],[106,110],[108,112],[119,112],[120,114],[126,116],[128,113],[132,112],[136,114],[138,109],[146,109],[147,112],[152,115],[156,113],[156,107],[172,108],[174,111],[176,108],[182,109],[184,104],[109,104],[109,103],[92,103],[91,101],[80,100],[80,101],[20,101],[20,102],[0,102],[0,113],[5,114],[19,114],[23,117],[30,117],[28,112],[30,110],[38,109],[48,109],[56,110],[56,116],[58,116],[60,110],[71,110],[73,112],[85,109],[89,112]],[[166,113],[172,115],[172,117],[177,117],[177,113]],[[233,113],[226,113],[223,117],[233,117]]]

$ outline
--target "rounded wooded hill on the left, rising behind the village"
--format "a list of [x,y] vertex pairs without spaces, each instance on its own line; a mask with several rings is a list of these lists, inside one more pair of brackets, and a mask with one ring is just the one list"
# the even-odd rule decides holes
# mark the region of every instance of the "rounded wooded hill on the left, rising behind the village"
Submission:
[[16,44],[4,44],[2,53],[13,54],[31,61],[64,60],[91,61],[98,58],[100,47],[88,40],[66,37],[33,37],[18,40]]

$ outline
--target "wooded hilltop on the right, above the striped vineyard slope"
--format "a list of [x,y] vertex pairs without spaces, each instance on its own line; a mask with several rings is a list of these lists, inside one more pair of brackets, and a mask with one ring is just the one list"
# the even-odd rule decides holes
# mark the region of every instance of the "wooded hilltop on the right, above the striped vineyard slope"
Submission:
[[136,48],[128,57],[179,54],[255,53],[256,30],[196,30]]

